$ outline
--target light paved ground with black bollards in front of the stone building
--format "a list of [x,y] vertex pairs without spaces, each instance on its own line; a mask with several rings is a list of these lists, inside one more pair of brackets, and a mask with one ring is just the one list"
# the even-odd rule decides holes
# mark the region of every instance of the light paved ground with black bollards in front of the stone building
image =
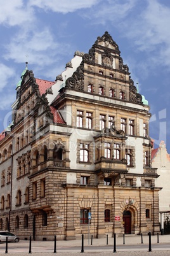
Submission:
[[[125,235],[125,237],[117,237],[116,238],[116,255],[118,256],[143,256],[148,252],[148,243],[149,237],[143,236],[143,245],[141,246],[141,236],[138,235]],[[159,248],[152,248],[152,255],[154,256],[167,256],[170,255],[170,235],[159,235],[159,243],[157,243],[158,238],[157,235],[151,236],[152,245],[159,244]],[[89,242],[89,243],[88,243]],[[169,243],[167,247],[166,244]],[[89,245],[88,245],[89,244]],[[129,245],[129,248],[121,249],[117,248],[119,245]],[[138,248],[133,248],[130,245],[139,245]],[[14,250],[11,248],[15,247]],[[54,253],[54,241],[32,241],[32,256],[110,256],[114,253],[114,238],[108,237],[108,245],[107,238],[101,239],[93,239],[93,245],[91,245],[91,236],[88,239],[84,239],[84,252],[81,252],[82,241],[81,239],[71,240],[71,241],[56,241],[56,253]],[[95,247],[96,246],[96,247]],[[105,246],[104,248],[102,246]],[[76,248],[73,248],[76,247]],[[127,247],[127,246],[126,246]],[[1,244],[0,246],[1,255],[5,254],[5,244]],[[29,254],[29,241],[20,241],[19,243],[9,243],[8,245],[8,255],[9,256],[26,256]]]

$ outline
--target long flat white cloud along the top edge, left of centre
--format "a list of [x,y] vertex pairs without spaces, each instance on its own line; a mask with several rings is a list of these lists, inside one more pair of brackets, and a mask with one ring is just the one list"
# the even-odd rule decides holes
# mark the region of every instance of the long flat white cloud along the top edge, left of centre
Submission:
[[30,6],[37,6],[46,11],[69,13],[82,8],[91,8],[101,0],[30,0]]

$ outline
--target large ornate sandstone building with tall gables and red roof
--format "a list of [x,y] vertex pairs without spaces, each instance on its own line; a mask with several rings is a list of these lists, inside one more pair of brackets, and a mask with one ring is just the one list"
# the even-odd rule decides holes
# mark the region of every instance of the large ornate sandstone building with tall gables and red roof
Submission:
[[[108,32],[55,82],[22,73],[0,137],[0,229],[21,238],[159,232],[148,102]],[[66,81],[65,81],[66,80]]]

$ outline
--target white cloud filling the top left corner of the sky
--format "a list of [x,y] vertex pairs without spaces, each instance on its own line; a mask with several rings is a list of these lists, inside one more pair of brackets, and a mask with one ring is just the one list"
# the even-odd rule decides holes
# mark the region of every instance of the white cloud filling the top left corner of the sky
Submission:
[[0,24],[4,25],[22,25],[23,22],[34,20],[33,9],[27,5],[27,1],[13,0],[4,1],[0,0]]

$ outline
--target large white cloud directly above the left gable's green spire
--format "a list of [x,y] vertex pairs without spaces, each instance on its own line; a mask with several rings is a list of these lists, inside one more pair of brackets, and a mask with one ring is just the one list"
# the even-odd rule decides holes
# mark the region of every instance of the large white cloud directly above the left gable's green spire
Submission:
[[64,46],[55,41],[48,27],[44,27],[41,31],[36,29],[32,32],[20,30],[15,38],[6,45],[8,53],[4,54],[4,59],[13,59],[20,63],[26,59],[25,55],[29,55],[28,60],[31,64],[46,66],[53,63],[55,58],[52,59],[52,57],[56,55],[59,48],[62,50]]

